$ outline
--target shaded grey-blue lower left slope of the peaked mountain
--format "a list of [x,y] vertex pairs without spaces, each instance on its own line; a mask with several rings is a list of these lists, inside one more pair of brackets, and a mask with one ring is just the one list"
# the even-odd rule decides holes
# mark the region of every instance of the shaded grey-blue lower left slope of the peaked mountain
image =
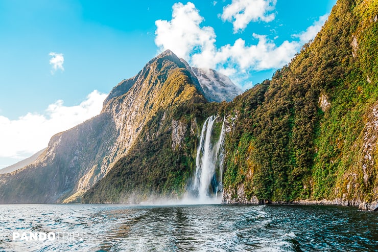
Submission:
[[[0,202],[60,202],[76,192],[81,177],[102,166],[115,141],[108,114],[86,121],[52,137],[37,162],[0,176]],[[93,173],[92,182],[101,174]]]

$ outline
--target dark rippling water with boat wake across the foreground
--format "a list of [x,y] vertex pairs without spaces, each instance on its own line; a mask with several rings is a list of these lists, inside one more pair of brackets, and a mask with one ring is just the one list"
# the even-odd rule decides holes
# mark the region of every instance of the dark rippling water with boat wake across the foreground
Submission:
[[378,251],[377,222],[308,205],[0,205],[0,251]]

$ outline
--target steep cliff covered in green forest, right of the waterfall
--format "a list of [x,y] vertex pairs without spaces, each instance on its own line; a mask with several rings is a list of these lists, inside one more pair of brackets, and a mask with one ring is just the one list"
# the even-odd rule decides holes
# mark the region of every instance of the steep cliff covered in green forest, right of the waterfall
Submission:
[[228,120],[225,202],[378,199],[377,7],[339,0],[270,82],[220,110],[238,116]]

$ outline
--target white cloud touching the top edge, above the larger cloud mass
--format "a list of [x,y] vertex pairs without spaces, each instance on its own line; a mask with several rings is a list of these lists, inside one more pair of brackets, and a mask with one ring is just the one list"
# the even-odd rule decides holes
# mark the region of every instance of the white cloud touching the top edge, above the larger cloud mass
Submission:
[[223,8],[221,18],[230,21],[233,32],[243,31],[251,21],[270,22],[275,14],[277,0],[232,0],[232,3]]

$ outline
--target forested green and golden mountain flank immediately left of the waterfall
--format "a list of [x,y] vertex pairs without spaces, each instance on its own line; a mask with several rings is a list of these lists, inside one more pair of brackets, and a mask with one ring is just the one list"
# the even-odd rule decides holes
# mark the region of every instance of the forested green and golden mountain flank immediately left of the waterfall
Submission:
[[186,191],[196,166],[197,120],[215,113],[216,105],[205,106],[187,70],[165,71],[169,62],[164,64],[156,67],[160,73],[153,77],[161,81],[161,91],[150,100],[161,109],[149,111],[151,117],[130,152],[84,194],[82,202],[132,203],[157,195],[179,197]]

